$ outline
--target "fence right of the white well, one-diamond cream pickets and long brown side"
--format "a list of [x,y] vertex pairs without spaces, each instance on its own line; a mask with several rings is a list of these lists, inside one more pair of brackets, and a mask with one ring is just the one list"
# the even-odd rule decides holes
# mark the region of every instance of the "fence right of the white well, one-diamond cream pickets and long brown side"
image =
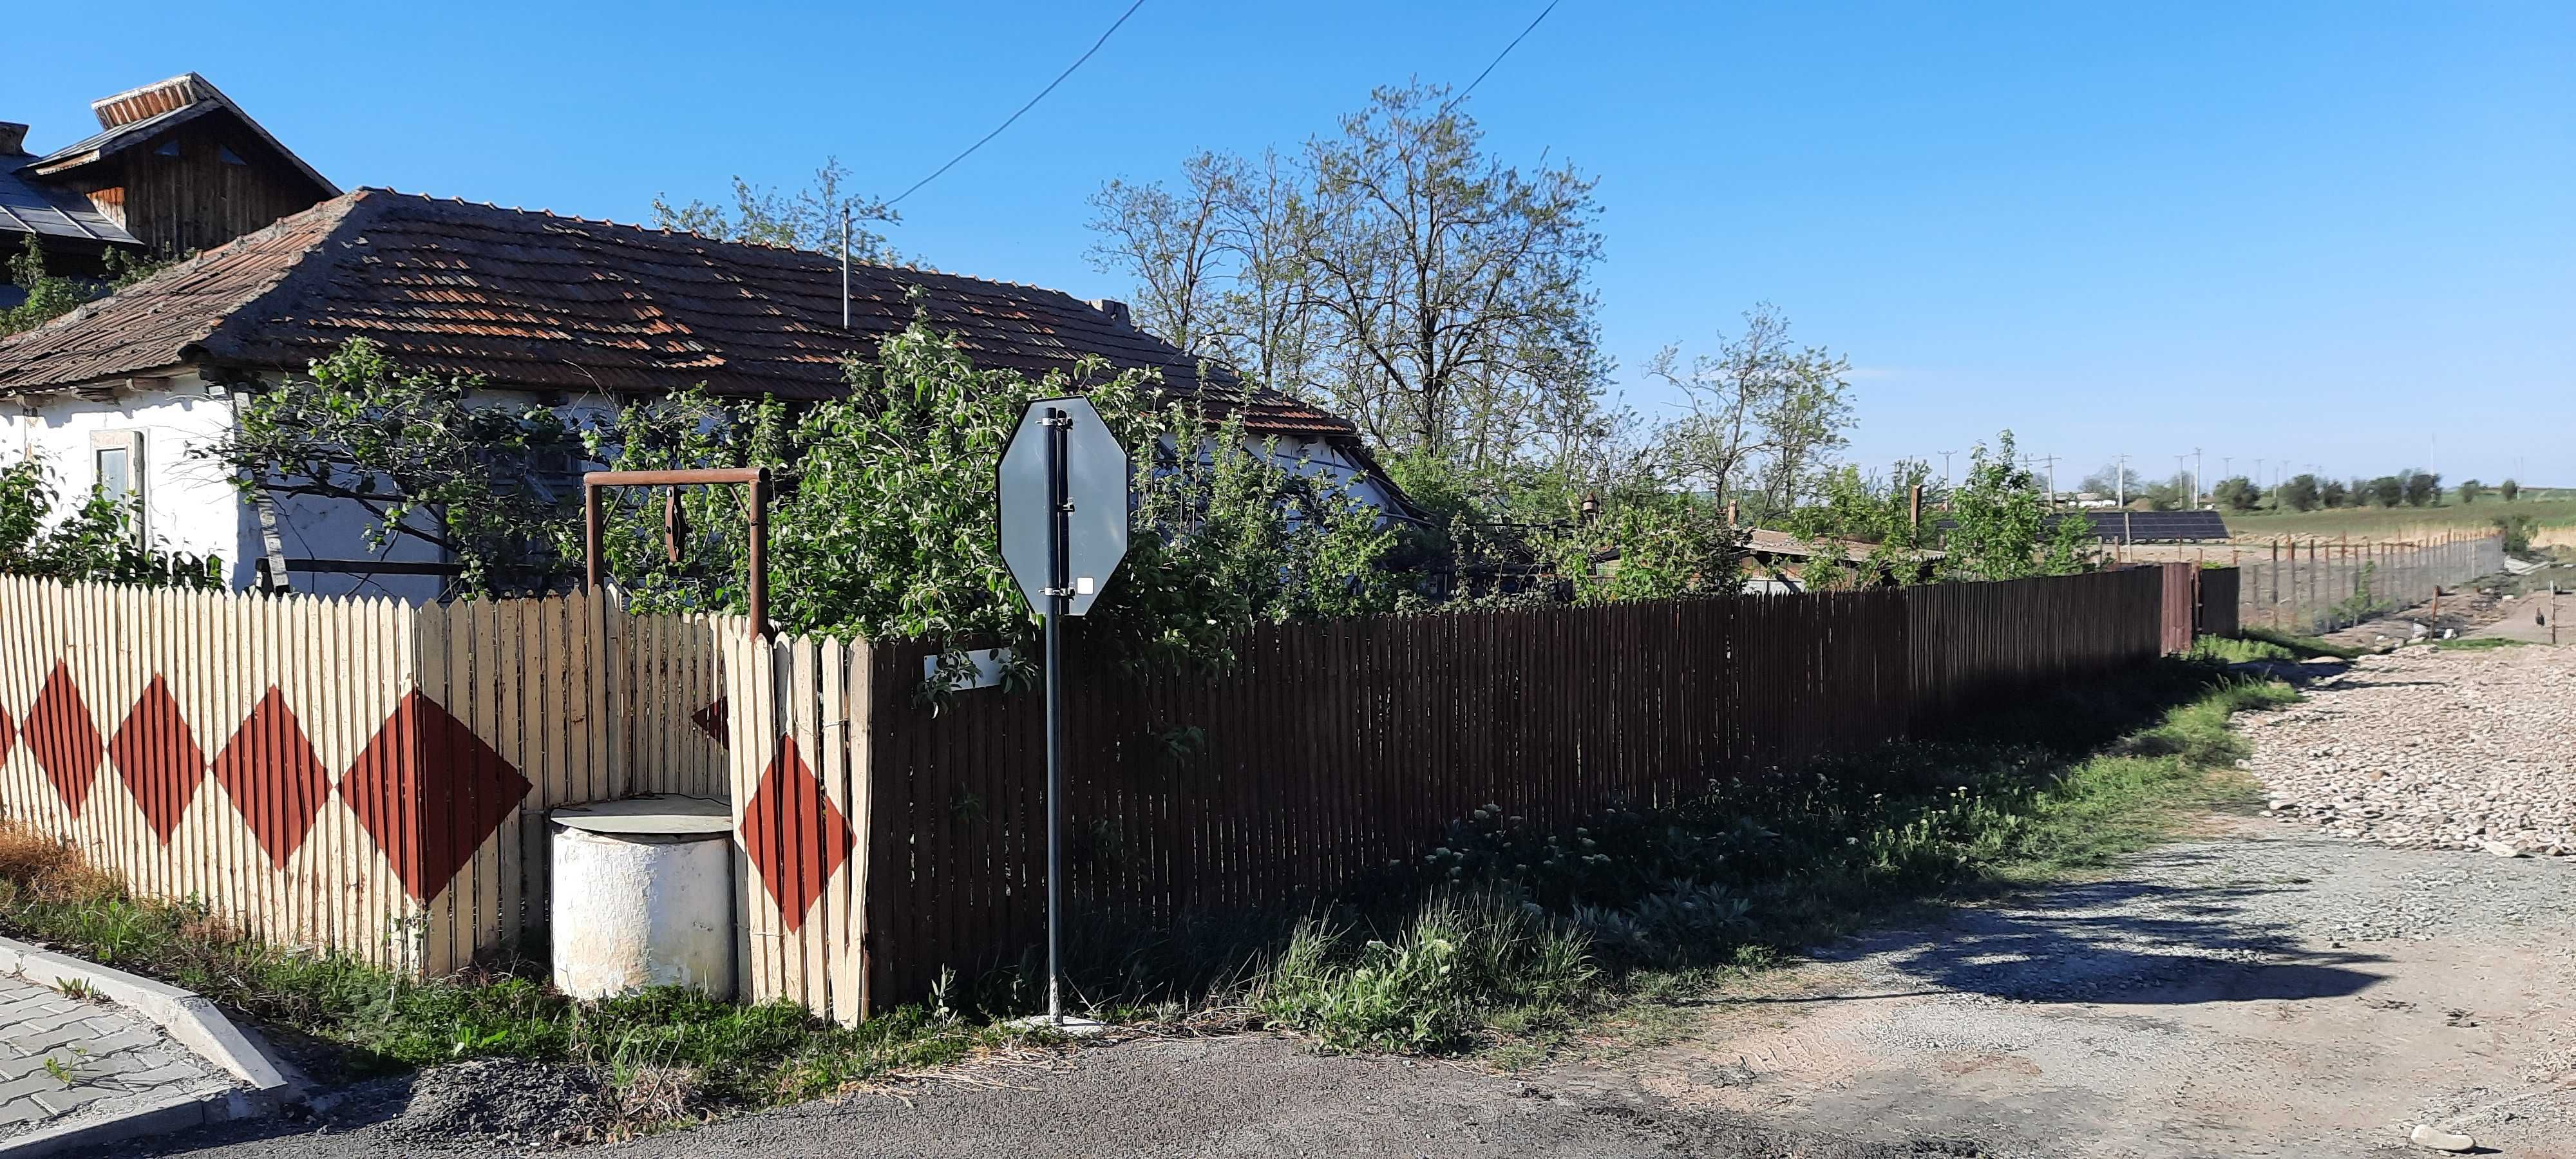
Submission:
[[[1540,827],[1906,737],[2166,652],[2164,569],[1260,628],[1224,675],[1066,680],[1066,899],[1293,907],[1494,804]],[[1077,649],[1079,654],[1079,649]],[[1043,706],[927,646],[726,657],[747,997],[855,1017],[1043,930]],[[750,690],[760,693],[750,693]]]

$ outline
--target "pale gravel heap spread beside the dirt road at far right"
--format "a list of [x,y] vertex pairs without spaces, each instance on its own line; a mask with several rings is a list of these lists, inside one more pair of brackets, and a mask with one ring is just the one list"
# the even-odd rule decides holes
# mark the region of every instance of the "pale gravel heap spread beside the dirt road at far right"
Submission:
[[2576,649],[2362,657],[2306,703],[2239,729],[2287,824],[2401,847],[2576,855]]

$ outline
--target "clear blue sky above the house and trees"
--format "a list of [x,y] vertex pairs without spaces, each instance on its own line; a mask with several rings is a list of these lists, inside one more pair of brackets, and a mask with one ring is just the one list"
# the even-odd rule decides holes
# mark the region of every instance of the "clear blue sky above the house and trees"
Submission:
[[[0,118],[198,70],[343,185],[647,219],[827,155],[891,196],[1123,10],[1054,5],[77,5],[10,15]],[[1293,147],[1370,85],[1463,82],[1538,3],[1146,0],[902,206],[907,255],[1115,296],[1082,198]],[[108,33],[103,33],[108,31]],[[1564,0],[1468,108],[1600,178],[1602,327],[1772,301],[1857,366],[1852,458],[2012,428],[2130,453],[2576,484],[2576,5]]]

